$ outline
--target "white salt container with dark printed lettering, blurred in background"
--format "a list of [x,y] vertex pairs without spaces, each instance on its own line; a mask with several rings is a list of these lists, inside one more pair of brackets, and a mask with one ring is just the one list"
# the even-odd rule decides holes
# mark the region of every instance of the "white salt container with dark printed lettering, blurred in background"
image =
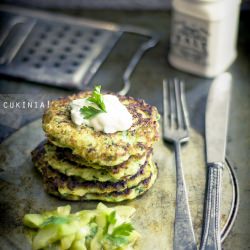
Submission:
[[169,62],[205,77],[236,58],[239,0],[173,0]]

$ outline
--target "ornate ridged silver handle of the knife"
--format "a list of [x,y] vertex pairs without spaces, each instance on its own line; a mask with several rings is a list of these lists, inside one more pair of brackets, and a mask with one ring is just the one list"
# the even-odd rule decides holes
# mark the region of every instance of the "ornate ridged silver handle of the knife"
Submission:
[[221,250],[220,192],[222,169],[222,163],[208,164],[205,222],[200,250]]

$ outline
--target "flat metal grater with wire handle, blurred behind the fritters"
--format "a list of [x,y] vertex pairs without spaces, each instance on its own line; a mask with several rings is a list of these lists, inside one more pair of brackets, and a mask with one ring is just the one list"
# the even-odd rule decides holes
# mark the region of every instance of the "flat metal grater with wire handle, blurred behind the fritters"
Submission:
[[143,53],[157,38],[140,28],[0,7],[0,73],[66,88],[83,89],[124,32],[150,39],[124,72],[124,89]]

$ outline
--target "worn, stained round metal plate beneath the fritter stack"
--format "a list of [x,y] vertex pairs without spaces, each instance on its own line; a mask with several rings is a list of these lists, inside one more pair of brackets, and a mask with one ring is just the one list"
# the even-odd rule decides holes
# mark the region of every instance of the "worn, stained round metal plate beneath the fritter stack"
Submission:
[[[191,215],[197,241],[202,228],[206,167],[202,136],[190,131],[190,142],[182,148],[182,160],[188,187]],[[25,213],[41,212],[71,204],[73,211],[95,208],[97,202],[61,201],[44,192],[42,180],[31,163],[31,150],[44,139],[41,120],[23,127],[0,145],[0,245],[3,249],[30,249],[23,234]],[[143,196],[123,204],[134,206],[135,227],[142,238],[143,250],[172,249],[175,212],[175,165],[171,148],[162,142],[155,145],[154,159],[159,176],[154,186]],[[222,180],[222,238],[228,234],[236,210],[235,176],[227,166]],[[109,206],[115,204],[108,204]]]

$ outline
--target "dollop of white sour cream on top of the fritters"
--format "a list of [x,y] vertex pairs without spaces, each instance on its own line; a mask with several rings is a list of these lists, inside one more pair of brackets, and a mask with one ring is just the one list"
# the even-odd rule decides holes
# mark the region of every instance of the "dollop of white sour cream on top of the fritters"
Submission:
[[85,119],[80,109],[83,106],[92,106],[98,109],[97,105],[89,102],[87,98],[73,100],[70,103],[71,120],[78,126],[86,125],[94,128],[95,131],[103,131],[104,133],[125,131],[132,126],[132,115],[116,96],[103,95],[103,102],[106,113],[99,113],[90,119]]

